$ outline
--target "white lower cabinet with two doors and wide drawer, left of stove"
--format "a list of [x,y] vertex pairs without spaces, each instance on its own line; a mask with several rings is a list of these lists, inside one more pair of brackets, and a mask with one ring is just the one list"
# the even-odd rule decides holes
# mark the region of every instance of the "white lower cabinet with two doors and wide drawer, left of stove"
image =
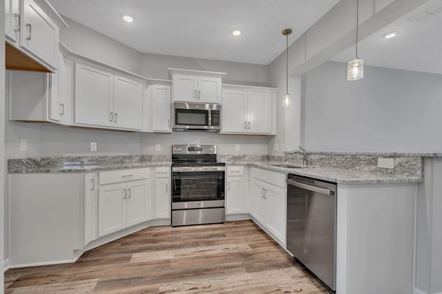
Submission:
[[149,220],[148,177],[148,168],[99,173],[98,237]]

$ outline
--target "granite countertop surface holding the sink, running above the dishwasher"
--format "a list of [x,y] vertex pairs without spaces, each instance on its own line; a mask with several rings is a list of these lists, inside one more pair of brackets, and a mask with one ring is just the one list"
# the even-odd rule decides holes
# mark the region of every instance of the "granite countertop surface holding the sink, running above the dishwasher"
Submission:
[[[327,180],[329,182],[337,182],[340,184],[391,184],[403,182],[422,182],[423,178],[413,176],[400,175],[384,175],[374,173],[372,171],[358,171],[354,169],[338,169],[334,167],[276,167],[280,162],[225,162],[226,165],[251,165],[269,171],[279,171],[285,174],[295,174],[297,176],[306,176],[316,178],[318,180]],[[284,165],[282,163],[282,165]]]

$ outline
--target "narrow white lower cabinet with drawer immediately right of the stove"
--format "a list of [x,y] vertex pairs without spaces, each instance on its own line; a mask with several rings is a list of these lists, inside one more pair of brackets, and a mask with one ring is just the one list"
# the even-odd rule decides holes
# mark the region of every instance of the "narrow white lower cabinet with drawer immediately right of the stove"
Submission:
[[244,167],[228,166],[226,214],[244,213]]

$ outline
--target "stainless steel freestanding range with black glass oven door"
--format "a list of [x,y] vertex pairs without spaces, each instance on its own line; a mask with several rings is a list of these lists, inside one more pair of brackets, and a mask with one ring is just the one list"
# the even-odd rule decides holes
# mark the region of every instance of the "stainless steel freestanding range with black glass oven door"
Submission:
[[172,145],[172,226],[224,222],[224,170],[215,145]]

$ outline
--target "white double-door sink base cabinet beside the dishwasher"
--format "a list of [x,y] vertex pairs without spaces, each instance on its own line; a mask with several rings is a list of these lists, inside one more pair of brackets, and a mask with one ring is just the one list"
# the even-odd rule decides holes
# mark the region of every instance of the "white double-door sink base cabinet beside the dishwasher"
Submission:
[[273,171],[251,171],[251,214],[282,246],[286,244],[286,178],[285,174]]

